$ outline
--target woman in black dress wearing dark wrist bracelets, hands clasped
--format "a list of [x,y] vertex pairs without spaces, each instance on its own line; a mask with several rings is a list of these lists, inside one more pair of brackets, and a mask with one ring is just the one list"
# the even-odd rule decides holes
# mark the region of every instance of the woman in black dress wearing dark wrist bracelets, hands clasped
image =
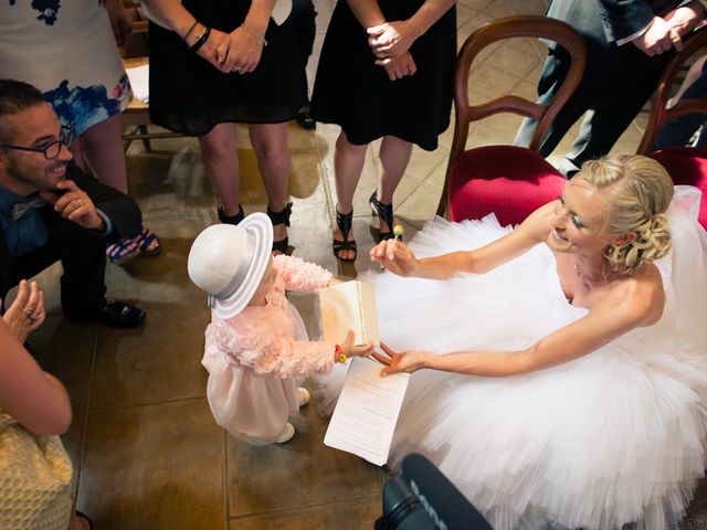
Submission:
[[287,250],[292,204],[287,121],[306,102],[306,78],[286,0],[145,0],[152,21],[150,119],[199,137],[202,160],[222,206],[221,222],[238,224],[238,137],[249,132],[267,192],[273,250]]

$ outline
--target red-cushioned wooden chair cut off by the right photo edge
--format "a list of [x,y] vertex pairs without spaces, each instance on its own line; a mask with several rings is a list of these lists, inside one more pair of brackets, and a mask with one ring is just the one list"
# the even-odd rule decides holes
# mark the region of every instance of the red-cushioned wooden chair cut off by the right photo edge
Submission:
[[685,62],[699,52],[707,52],[707,29],[685,39],[683,51],[675,54],[666,65],[653,94],[651,114],[637,152],[661,162],[676,184],[689,184],[703,191],[698,220],[699,224],[707,229],[707,149],[671,147],[653,152],[653,146],[664,123],[690,114],[701,114],[707,117],[707,98],[686,99],[672,108],[666,108],[677,74]]

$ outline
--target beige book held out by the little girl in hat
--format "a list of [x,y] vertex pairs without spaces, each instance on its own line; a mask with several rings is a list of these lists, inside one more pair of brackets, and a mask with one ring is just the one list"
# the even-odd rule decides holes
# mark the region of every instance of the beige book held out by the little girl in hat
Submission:
[[319,290],[321,335],[324,340],[340,344],[352,329],[355,343],[380,343],[376,289],[363,282],[344,282]]

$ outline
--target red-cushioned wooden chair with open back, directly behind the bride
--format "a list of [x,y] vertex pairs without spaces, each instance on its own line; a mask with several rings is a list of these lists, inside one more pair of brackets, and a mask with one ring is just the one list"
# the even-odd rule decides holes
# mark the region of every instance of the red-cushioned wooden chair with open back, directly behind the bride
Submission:
[[[510,38],[546,39],[568,51],[572,64],[557,97],[550,105],[539,105],[517,95],[504,95],[479,105],[469,105],[472,63],[489,44]],[[577,88],[585,63],[582,36],[564,22],[546,17],[499,19],[481,26],[466,39],[456,60],[454,140],[437,208],[439,215],[446,211],[449,219],[460,221],[479,219],[495,212],[502,224],[517,224],[530,212],[558,197],[566,180],[536,150],[548,126]],[[539,120],[530,147],[504,145],[467,150],[469,123],[499,113]]]

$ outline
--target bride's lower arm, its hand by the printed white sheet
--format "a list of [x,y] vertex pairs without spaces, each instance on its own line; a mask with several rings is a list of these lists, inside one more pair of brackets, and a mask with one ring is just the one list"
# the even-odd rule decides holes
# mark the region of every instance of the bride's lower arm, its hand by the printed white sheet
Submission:
[[583,357],[634,328],[654,322],[663,311],[662,286],[627,286],[615,289],[587,316],[544,337],[525,350],[456,351],[435,356],[424,350],[398,353],[381,343],[388,364],[381,374],[422,369],[483,377],[506,377],[555,367]]

